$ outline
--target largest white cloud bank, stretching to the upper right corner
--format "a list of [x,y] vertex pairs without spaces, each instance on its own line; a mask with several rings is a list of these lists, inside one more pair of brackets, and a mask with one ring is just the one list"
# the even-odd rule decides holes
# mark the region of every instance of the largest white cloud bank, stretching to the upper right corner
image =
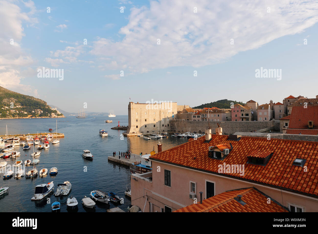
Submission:
[[[118,67],[128,65],[132,73],[177,66],[202,67],[301,33],[317,21],[318,4],[313,0],[231,4],[222,0],[198,0],[196,4],[150,1],[149,7],[130,9],[128,24],[119,31],[123,39],[97,38],[90,53],[101,57],[107,54]],[[230,44],[231,39],[234,45]]]

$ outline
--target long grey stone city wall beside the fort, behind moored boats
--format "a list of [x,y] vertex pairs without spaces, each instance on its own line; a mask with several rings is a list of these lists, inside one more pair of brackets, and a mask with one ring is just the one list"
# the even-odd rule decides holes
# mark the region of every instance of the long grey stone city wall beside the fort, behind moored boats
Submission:
[[[212,134],[215,134],[215,129],[218,127],[219,121],[210,121]],[[235,132],[251,132],[274,126],[273,131],[279,131],[279,121],[226,121],[220,126],[223,129],[223,134],[234,134]],[[208,121],[186,121],[186,120],[170,120],[170,131],[172,132],[187,132],[196,131],[204,133],[208,128]]]

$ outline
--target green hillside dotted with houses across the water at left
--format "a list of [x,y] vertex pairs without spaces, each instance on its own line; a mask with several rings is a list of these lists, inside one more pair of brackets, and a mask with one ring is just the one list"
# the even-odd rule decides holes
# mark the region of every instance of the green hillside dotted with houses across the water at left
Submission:
[[51,110],[39,98],[13,92],[0,86],[0,117],[64,117],[57,110]]

